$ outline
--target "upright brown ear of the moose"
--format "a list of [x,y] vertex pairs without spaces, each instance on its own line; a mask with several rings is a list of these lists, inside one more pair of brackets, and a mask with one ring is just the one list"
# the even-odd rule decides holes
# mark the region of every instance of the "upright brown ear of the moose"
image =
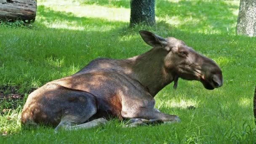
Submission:
[[162,47],[165,48],[167,45],[167,41],[158,35],[153,34],[152,32],[148,32],[146,30],[139,31],[144,42],[152,47]]

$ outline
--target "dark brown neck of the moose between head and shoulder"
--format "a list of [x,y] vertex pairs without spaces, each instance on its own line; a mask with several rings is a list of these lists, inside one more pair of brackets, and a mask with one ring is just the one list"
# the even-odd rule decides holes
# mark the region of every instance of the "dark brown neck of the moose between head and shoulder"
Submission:
[[154,97],[173,81],[173,75],[164,67],[164,58],[167,54],[168,51],[161,48],[152,48],[142,55],[126,59],[128,71],[125,73],[138,80]]

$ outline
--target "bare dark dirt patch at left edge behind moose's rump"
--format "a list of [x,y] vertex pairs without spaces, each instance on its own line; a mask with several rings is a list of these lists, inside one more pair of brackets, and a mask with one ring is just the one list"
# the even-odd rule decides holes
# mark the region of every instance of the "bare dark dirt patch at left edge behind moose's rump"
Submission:
[[[31,88],[29,93],[36,89]],[[24,93],[19,93],[19,86],[0,85],[0,113],[5,113],[7,109],[16,109],[22,104],[24,96]]]

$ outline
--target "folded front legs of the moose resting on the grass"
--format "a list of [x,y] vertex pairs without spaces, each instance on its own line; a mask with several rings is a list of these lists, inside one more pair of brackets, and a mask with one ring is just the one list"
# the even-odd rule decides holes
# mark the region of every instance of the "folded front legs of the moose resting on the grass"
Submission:
[[160,112],[158,109],[140,107],[133,111],[122,111],[122,116],[131,118],[127,125],[130,127],[138,125],[156,124],[156,123],[179,123],[181,120],[177,115],[168,115]]

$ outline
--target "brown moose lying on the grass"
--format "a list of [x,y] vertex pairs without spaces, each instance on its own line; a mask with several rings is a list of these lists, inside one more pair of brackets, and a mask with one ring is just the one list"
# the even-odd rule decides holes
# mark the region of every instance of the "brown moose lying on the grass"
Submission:
[[176,115],[155,109],[155,95],[178,79],[197,80],[208,90],[223,84],[220,67],[174,37],[139,31],[153,48],[128,59],[98,58],[79,72],[53,80],[29,94],[21,123],[53,125],[59,129],[87,129],[119,120],[180,122]]

